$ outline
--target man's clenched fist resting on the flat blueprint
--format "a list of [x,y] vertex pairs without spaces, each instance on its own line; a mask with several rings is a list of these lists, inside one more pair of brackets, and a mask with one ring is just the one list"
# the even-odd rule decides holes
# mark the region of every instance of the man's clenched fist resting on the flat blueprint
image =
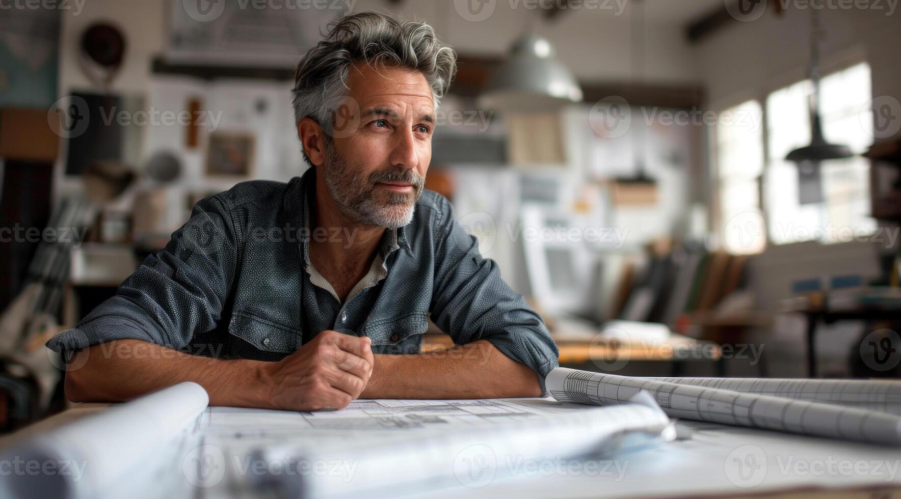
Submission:
[[337,331],[322,331],[296,352],[265,367],[274,409],[343,409],[369,383],[375,359],[372,341]]

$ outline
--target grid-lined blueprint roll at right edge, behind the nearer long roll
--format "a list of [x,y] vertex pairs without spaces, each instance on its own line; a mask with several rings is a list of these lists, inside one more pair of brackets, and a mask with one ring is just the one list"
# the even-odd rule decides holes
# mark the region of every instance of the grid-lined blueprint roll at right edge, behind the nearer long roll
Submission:
[[656,377],[678,385],[839,404],[901,416],[901,381],[761,377]]

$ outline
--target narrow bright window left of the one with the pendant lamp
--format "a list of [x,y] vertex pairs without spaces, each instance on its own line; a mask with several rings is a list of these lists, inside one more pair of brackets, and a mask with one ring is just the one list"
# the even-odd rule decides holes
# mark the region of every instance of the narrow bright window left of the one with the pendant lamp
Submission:
[[766,245],[760,216],[761,117],[760,103],[748,101],[720,113],[716,125],[720,234],[733,253],[757,253]]

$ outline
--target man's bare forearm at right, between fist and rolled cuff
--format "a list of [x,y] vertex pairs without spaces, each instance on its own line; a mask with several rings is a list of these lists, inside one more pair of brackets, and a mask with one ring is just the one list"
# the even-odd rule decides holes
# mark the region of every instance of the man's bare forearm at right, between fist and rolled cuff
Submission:
[[413,355],[376,355],[360,398],[541,396],[538,375],[487,340]]

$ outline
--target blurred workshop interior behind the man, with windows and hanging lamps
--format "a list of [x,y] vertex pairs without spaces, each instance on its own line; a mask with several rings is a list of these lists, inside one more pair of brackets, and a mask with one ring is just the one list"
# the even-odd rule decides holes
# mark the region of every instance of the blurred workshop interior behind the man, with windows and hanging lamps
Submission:
[[[206,195],[306,168],[289,89],[327,24],[458,52],[427,187],[560,364],[896,377],[896,2],[0,3],[0,429],[66,406],[43,343]],[[423,349],[450,345],[433,325]]]

